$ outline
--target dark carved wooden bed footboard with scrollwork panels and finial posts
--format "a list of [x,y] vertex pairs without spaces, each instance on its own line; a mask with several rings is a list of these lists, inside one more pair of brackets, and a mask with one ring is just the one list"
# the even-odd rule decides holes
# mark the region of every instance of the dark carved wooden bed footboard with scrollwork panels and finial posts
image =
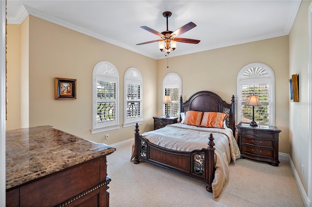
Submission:
[[158,166],[183,173],[207,183],[206,190],[212,192],[212,182],[215,176],[214,138],[210,134],[207,148],[192,152],[176,151],[150,143],[139,134],[138,124],[135,128],[135,158]]

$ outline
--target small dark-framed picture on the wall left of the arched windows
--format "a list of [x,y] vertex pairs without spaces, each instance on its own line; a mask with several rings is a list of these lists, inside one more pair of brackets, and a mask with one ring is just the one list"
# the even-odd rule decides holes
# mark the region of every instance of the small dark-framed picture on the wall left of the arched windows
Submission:
[[76,79],[55,78],[55,99],[76,99]]

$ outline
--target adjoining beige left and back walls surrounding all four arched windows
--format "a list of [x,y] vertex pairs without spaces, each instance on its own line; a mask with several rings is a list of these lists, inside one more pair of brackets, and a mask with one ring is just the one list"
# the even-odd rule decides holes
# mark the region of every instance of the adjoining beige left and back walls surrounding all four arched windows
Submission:
[[[236,96],[238,71],[250,63],[260,62],[269,65],[275,74],[275,125],[282,130],[279,152],[289,153],[288,42],[286,35],[173,57],[169,59],[167,69],[167,59],[156,61],[29,16],[29,126],[53,125],[79,137],[107,144],[133,138],[133,128],[122,128],[122,125],[119,130],[90,133],[92,69],[100,61],[111,62],[119,73],[120,124],[123,123],[124,72],[130,67],[141,72],[144,124],[140,132],[152,129],[152,117],[161,115],[162,104],[157,100],[162,99],[162,80],[169,72],[181,76],[184,100],[198,90],[211,90],[230,102],[231,96]],[[54,99],[55,77],[77,79],[77,100]],[[105,140],[105,134],[110,138]]]

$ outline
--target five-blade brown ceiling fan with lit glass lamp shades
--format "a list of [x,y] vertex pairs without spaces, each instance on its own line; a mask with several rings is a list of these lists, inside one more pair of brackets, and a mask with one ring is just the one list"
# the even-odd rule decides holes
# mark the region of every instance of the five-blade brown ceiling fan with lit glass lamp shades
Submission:
[[152,42],[159,42],[158,46],[159,46],[159,50],[162,52],[164,50],[166,50],[166,52],[169,54],[169,52],[172,50],[176,49],[176,42],[183,42],[183,43],[192,43],[192,44],[198,44],[200,42],[200,40],[197,39],[188,39],[188,38],[179,38],[176,37],[177,35],[181,35],[191,29],[193,29],[194,27],[196,27],[196,24],[194,24],[193,22],[189,22],[187,24],[185,24],[184,26],[180,27],[179,29],[177,29],[175,32],[169,31],[168,30],[168,17],[170,17],[172,14],[171,12],[164,12],[162,14],[164,17],[166,17],[167,19],[167,30],[159,33],[156,30],[153,30],[147,26],[141,26],[140,28],[151,32],[155,35],[158,35],[161,37],[161,39],[156,39],[156,40],[152,40],[152,41],[148,41],[148,42],[142,42],[139,43],[137,45],[144,45],[144,44],[148,44],[148,43],[152,43]]

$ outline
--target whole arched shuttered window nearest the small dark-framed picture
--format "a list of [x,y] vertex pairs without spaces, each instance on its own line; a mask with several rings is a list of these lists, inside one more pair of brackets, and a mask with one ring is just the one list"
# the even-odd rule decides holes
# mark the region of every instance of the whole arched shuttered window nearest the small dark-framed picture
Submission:
[[119,127],[119,75],[109,62],[99,62],[92,73],[92,130],[99,133]]

